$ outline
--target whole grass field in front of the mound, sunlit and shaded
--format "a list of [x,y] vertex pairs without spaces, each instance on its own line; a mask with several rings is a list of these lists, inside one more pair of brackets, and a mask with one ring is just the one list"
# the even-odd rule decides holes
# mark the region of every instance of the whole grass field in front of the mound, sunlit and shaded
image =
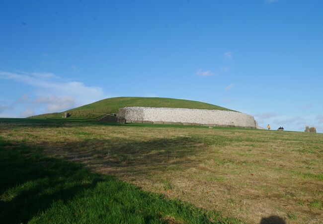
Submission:
[[5,223],[323,223],[319,133],[0,119],[0,153]]

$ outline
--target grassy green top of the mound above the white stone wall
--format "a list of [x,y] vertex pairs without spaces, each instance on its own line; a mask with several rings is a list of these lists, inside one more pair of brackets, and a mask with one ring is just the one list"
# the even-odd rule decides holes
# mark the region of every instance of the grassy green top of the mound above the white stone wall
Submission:
[[[117,113],[124,107],[153,107],[153,108],[187,108],[187,109],[207,109],[233,111],[198,101],[180,100],[159,97],[115,97],[108,98],[66,112],[71,114],[71,118],[95,118],[105,113]],[[45,113],[31,116],[30,118],[59,118],[63,112]]]

